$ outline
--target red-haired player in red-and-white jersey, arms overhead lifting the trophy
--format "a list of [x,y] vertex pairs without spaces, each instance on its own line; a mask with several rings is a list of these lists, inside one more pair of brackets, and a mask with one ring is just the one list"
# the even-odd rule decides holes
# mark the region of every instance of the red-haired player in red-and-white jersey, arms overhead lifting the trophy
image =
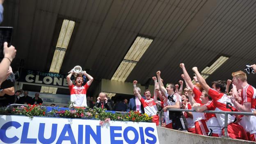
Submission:
[[73,72],[69,73],[69,75],[66,78],[69,84],[70,101],[73,103],[74,107],[87,107],[86,92],[89,86],[91,85],[91,82],[93,82],[94,78],[88,73],[86,73],[86,71],[83,71],[83,75],[85,75],[89,80],[86,82],[84,86],[82,86],[84,79],[81,75],[78,75],[75,78],[75,85],[73,85],[73,82],[71,80],[72,75]]

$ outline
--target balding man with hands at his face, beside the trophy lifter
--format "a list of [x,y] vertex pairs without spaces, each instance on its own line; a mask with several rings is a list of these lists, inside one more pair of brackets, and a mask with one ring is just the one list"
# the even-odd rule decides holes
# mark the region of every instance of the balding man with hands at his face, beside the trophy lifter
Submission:
[[97,98],[97,101],[95,103],[96,107],[99,107],[101,109],[107,109],[112,110],[111,103],[107,101],[107,96],[105,93],[101,92]]

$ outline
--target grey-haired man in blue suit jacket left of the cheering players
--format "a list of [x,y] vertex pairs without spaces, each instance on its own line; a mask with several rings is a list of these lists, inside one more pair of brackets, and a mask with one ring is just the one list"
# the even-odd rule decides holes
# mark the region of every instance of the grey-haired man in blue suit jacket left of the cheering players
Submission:
[[[140,94],[141,93],[140,88],[137,87],[137,89],[138,89],[139,94]],[[135,94],[134,89],[133,89],[133,93]],[[146,99],[145,96],[142,96],[142,98]],[[145,113],[143,105],[140,103],[139,99],[136,96],[134,96],[133,98],[130,98],[127,112],[130,112],[130,110],[139,111],[142,114]]]

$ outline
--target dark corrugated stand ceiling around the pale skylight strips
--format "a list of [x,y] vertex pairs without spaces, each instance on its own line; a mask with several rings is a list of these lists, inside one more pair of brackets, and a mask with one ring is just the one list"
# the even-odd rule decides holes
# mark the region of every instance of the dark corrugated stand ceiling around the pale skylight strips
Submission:
[[[63,18],[75,29],[60,73],[82,66],[96,79],[111,79],[138,34],[153,43],[128,76],[142,84],[162,71],[177,82],[179,63],[188,72],[203,70],[218,55],[228,55],[207,81],[256,62],[255,0],[6,0],[2,26],[13,26],[18,52],[14,69],[49,71]],[[249,75],[249,82],[256,82]]]

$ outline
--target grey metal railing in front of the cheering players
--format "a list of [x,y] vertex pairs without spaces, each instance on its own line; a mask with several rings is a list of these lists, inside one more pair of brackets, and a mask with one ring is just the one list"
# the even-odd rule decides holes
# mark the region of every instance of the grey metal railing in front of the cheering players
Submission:
[[[197,112],[195,110],[185,110],[185,109],[167,109],[167,111],[177,111],[177,112]],[[160,111],[160,117],[159,117],[159,126],[162,126],[162,112]],[[234,115],[254,115],[253,112],[227,112],[227,111],[215,111],[215,110],[205,110],[202,113],[213,113],[213,114],[225,114],[225,120],[224,120],[224,137],[228,137],[228,114],[234,114]]]

